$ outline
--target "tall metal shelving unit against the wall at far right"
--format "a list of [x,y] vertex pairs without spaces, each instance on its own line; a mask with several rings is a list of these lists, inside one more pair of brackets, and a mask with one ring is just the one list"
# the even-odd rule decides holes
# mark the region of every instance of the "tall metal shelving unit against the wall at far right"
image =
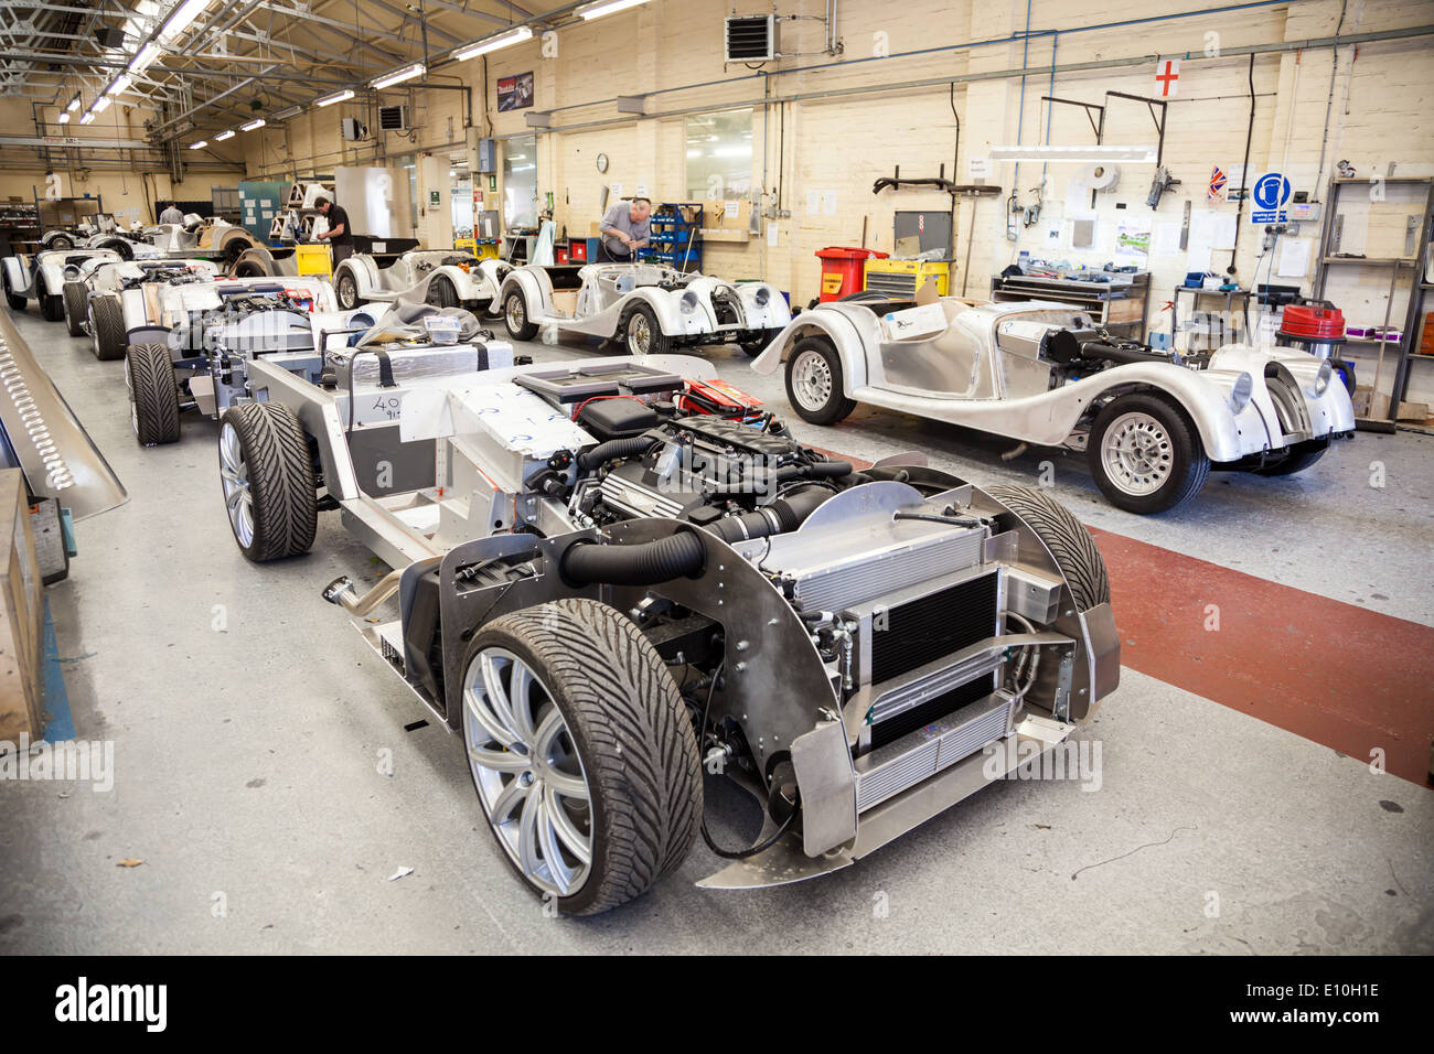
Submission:
[[[1384,303],[1384,328],[1388,328],[1390,318],[1394,313],[1394,300],[1400,293],[1404,283],[1400,278],[1404,275],[1405,270],[1410,271],[1410,281],[1407,284],[1405,293],[1408,293],[1408,308],[1404,313],[1404,327],[1400,331],[1400,343],[1394,344],[1387,340],[1369,340],[1351,337],[1347,340],[1348,344],[1355,347],[1378,347],[1380,354],[1375,359],[1374,366],[1374,380],[1369,387],[1369,412],[1371,416],[1357,419],[1357,423],[1362,427],[1377,427],[1380,430],[1392,430],[1394,422],[1400,414],[1400,403],[1404,402],[1404,396],[1408,393],[1410,387],[1410,360],[1414,357],[1414,350],[1418,347],[1420,331],[1423,330],[1424,320],[1424,294],[1430,290],[1431,283],[1424,281],[1425,268],[1430,258],[1430,242],[1434,239],[1434,178],[1428,176],[1390,176],[1384,179],[1387,186],[1423,186],[1424,188],[1424,218],[1420,222],[1418,231],[1415,231],[1414,248],[1415,255],[1412,257],[1347,257],[1338,252],[1331,254],[1331,248],[1338,248],[1334,244],[1335,222],[1339,214],[1339,192],[1345,186],[1358,185],[1364,189],[1369,188],[1368,179],[1344,179],[1335,178],[1329,181],[1329,192],[1325,195],[1325,218],[1319,228],[1319,250],[1322,254],[1319,257],[1319,264],[1315,270],[1315,300],[1325,300],[1325,287],[1329,281],[1329,271],[1335,267],[1381,267],[1390,271],[1390,290],[1385,294]],[[1394,383],[1390,387],[1390,412],[1388,417],[1374,417],[1372,412],[1375,402],[1380,396],[1380,374],[1384,370],[1384,356],[1390,348],[1398,350],[1398,361],[1394,364]]]

